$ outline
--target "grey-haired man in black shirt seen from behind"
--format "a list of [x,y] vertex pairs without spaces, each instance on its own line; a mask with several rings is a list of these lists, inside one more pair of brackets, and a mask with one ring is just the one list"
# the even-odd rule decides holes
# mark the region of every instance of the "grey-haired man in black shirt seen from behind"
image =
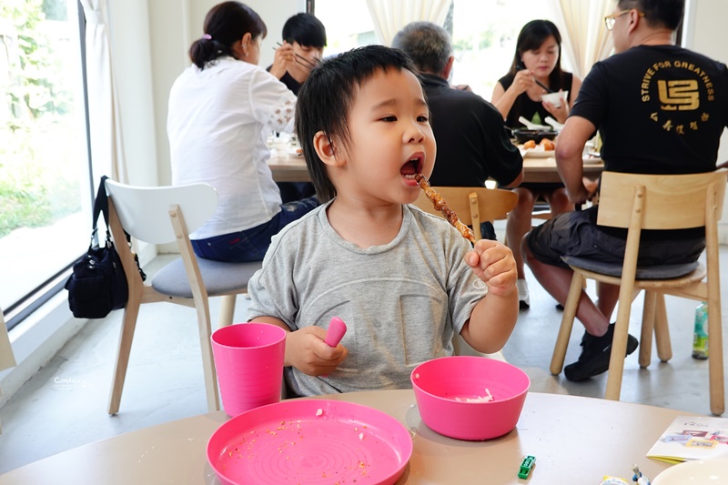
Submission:
[[[420,71],[430,106],[430,125],[438,144],[430,184],[483,187],[488,178],[501,186],[521,183],[523,158],[513,146],[498,110],[467,86],[450,87],[454,56],[448,32],[430,22],[406,25],[392,39]],[[495,238],[490,222],[483,237]]]

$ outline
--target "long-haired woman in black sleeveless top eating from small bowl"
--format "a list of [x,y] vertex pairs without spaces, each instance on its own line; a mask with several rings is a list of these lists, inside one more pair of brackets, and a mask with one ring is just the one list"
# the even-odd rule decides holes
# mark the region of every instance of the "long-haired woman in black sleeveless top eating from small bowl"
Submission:
[[[493,88],[491,103],[498,108],[506,126],[521,126],[519,117],[545,125],[547,116],[564,123],[581,87],[581,79],[561,70],[561,35],[549,20],[531,20],[523,25],[516,42],[511,69]],[[553,100],[541,100],[550,92],[561,94]],[[508,214],[506,242],[516,258],[519,304],[529,308],[531,301],[521,257],[521,238],[531,229],[531,214],[537,199],[545,199],[551,216],[573,210],[561,184],[521,184],[513,189],[518,205]]]

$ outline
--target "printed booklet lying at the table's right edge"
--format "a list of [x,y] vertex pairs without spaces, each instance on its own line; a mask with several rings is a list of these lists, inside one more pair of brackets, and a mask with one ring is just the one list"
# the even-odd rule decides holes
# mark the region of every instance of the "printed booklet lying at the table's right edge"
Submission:
[[728,458],[728,418],[678,416],[647,457],[669,463]]

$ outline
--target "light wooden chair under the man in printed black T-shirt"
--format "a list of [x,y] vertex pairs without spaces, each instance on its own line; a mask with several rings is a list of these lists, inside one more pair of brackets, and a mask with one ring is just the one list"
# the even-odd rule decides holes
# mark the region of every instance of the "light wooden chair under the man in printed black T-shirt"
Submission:
[[[586,258],[562,258],[574,271],[551,359],[551,373],[563,367],[571,326],[581,297],[584,278],[620,285],[619,308],[607,379],[606,398],[619,400],[627,347],[632,300],[644,290],[640,366],[652,356],[652,332],[662,361],[672,357],[664,295],[708,303],[710,347],[710,404],[715,415],[723,414],[723,335],[721,287],[718,261],[718,220],[723,213],[728,170],[691,175],[622,174],[604,172],[597,222],[602,226],[628,229],[622,265],[608,265]],[[641,229],[705,227],[706,265],[637,267]],[[703,280],[705,279],[705,280]],[[692,325],[692,322],[691,322]]]

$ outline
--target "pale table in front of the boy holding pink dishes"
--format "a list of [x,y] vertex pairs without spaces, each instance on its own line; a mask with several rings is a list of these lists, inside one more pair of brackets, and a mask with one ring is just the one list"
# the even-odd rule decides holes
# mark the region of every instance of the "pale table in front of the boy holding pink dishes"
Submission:
[[[413,452],[398,484],[598,485],[605,475],[632,478],[637,464],[649,478],[668,463],[645,457],[681,411],[606,399],[531,392],[515,429],[494,440],[452,440],[420,419],[414,393],[365,391],[317,399],[379,409],[409,430]],[[101,411],[99,411],[101,412]],[[0,475],[0,485],[60,483],[217,484],[207,463],[207,440],[224,412],[139,429],[68,450]],[[527,480],[517,473],[536,457]],[[357,484],[360,485],[360,484]]]

